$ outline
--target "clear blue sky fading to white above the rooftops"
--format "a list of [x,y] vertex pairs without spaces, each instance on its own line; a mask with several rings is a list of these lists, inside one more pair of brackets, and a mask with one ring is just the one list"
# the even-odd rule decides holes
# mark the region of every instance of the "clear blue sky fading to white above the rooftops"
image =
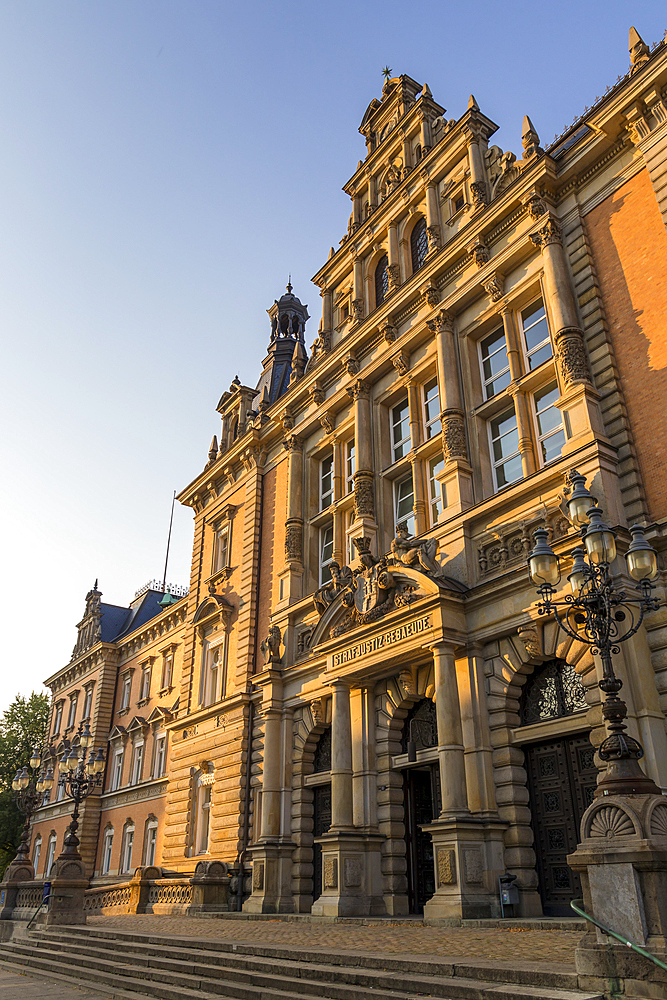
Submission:
[[[0,709],[64,666],[84,596],[160,577],[215,405],[255,384],[265,310],[350,211],[381,69],[450,117],[473,92],[520,152],[651,44],[664,4],[0,2]],[[189,579],[177,511],[169,579]]]

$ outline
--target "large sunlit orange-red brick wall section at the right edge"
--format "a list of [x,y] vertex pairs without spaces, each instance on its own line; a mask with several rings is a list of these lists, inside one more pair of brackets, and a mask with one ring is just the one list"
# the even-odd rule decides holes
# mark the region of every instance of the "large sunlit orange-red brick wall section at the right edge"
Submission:
[[586,216],[652,519],[667,516],[667,232],[646,170]]

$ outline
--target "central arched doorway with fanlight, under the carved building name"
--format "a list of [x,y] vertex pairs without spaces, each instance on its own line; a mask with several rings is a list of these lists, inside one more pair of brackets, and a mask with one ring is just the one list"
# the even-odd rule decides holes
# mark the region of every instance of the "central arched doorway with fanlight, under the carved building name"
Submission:
[[422,827],[440,814],[440,771],[435,705],[430,698],[417,702],[403,725],[401,749],[408,756],[403,769],[405,849],[410,913],[423,913],[435,892],[431,834]]

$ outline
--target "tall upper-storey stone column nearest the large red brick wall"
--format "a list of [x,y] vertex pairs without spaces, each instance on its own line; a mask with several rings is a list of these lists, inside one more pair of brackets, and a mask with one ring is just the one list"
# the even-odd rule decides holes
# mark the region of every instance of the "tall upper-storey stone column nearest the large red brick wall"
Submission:
[[568,438],[563,447],[566,455],[588,440],[605,438],[598,406],[600,394],[594,389],[588,370],[561,229],[555,216],[550,215],[530,238],[542,251],[545,307],[551,321],[561,392],[557,406],[563,413]]

